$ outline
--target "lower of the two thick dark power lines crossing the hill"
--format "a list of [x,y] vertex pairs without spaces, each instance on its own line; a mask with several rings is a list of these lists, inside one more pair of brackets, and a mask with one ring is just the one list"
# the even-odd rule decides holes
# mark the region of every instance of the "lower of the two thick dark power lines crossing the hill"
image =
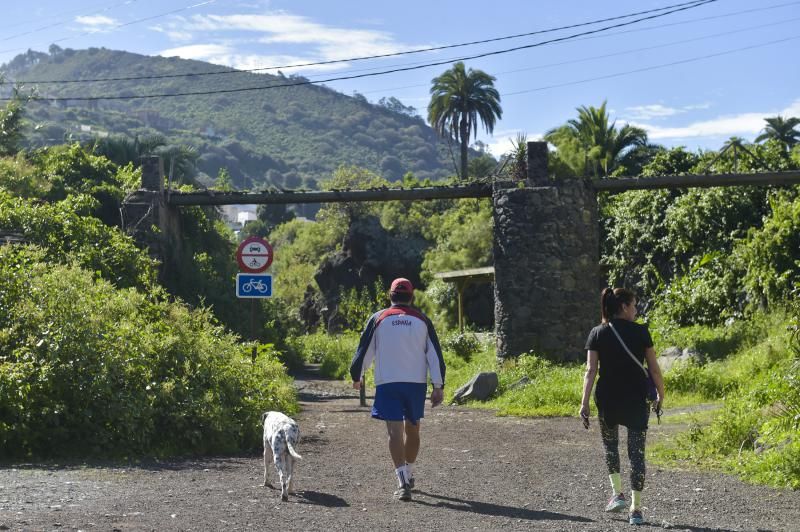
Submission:
[[[446,61],[437,61],[437,62],[433,62],[433,63],[426,63],[426,64],[423,64],[423,65],[416,65],[416,66],[402,67],[402,68],[393,68],[393,69],[384,70],[384,71],[381,71],[381,72],[371,72],[371,73],[367,73],[367,74],[354,74],[354,75],[350,75],[350,76],[337,76],[337,77],[333,77],[333,78],[327,78],[327,79],[316,80],[316,81],[308,81],[308,80],[305,80],[305,81],[294,81],[294,82],[291,82],[291,83],[281,83],[281,84],[277,84],[277,85],[273,84],[273,85],[263,85],[263,86],[258,86],[258,87],[240,87],[240,88],[235,88],[235,89],[215,89],[215,90],[210,90],[210,91],[195,91],[195,92],[182,92],[182,93],[171,93],[171,94],[144,94],[144,95],[133,95],[133,96],[34,97],[33,99],[39,100],[39,101],[64,101],[64,100],[94,101],[94,100],[135,100],[135,99],[152,99],[152,98],[173,98],[173,97],[177,97],[177,96],[204,96],[204,95],[210,95],[210,94],[230,94],[230,93],[247,92],[247,91],[254,91],[254,90],[268,90],[268,89],[275,89],[275,88],[296,87],[296,86],[300,86],[300,85],[315,85],[315,84],[318,84],[318,83],[329,83],[329,82],[332,82],[332,81],[343,81],[343,80],[348,80],[348,79],[358,79],[358,78],[365,78],[365,77],[372,77],[372,76],[382,76],[382,75],[393,74],[393,73],[397,73],[397,72],[407,72],[407,71],[410,71],[410,70],[419,70],[419,69],[422,69],[422,68],[430,68],[430,67],[433,67],[433,66],[441,66],[441,65],[445,65],[445,64],[450,64],[453,61],[467,61],[467,60],[470,60],[470,59],[479,59],[479,58],[483,58],[483,57],[490,57],[490,56],[494,56],[494,55],[500,55],[500,54],[506,54],[506,53],[510,53],[510,52],[516,52],[516,51],[519,51],[519,50],[527,50],[527,49],[531,49],[531,48],[537,48],[539,46],[544,46],[544,45],[552,44],[552,43],[556,43],[556,42],[562,42],[562,41],[574,39],[576,37],[582,37],[584,35],[592,35],[592,34],[600,33],[600,32],[603,32],[603,31],[610,30],[610,29],[614,29],[614,28],[630,26],[632,24],[637,24],[639,22],[642,22],[643,20],[651,20],[651,19],[655,19],[655,18],[664,17],[664,16],[667,16],[667,15],[671,15],[673,13],[677,13],[677,12],[680,12],[680,11],[685,11],[687,9],[693,9],[695,7],[699,7],[701,5],[705,5],[705,4],[716,2],[716,1],[717,0],[703,0],[701,3],[694,3],[694,4],[688,5],[688,6],[684,5],[683,7],[676,8],[676,9],[673,9],[671,11],[666,11],[664,13],[658,13],[658,14],[655,14],[655,15],[648,15],[646,17],[634,19],[634,20],[631,20],[631,21],[620,22],[620,23],[617,23],[617,24],[613,24],[611,26],[604,26],[602,28],[597,28],[597,29],[593,29],[593,30],[580,32],[580,33],[575,33],[575,34],[567,35],[567,36],[564,36],[564,37],[557,37],[557,38],[554,38],[554,39],[550,39],[550,40],[547,40],[547,41],[540,41],[540,42],[533,43],[533,44],[526,44],[526,45],[516,46],[516,47],[513,47],[513,48],[506,48],[506,49],[503,49],[503,50],[494,50],[494,51],[490,51],[490,52],[484,52],[484,53],[480,53],[480,54],[475,54],[475,55],[471,55],[471,56],[465,56],[465,57],[457,58],[457,59],[454,59],[454,60],[453,59],[448,59]],[[0,100],[8,100],[8,99],[9,98],[0,98]]]

